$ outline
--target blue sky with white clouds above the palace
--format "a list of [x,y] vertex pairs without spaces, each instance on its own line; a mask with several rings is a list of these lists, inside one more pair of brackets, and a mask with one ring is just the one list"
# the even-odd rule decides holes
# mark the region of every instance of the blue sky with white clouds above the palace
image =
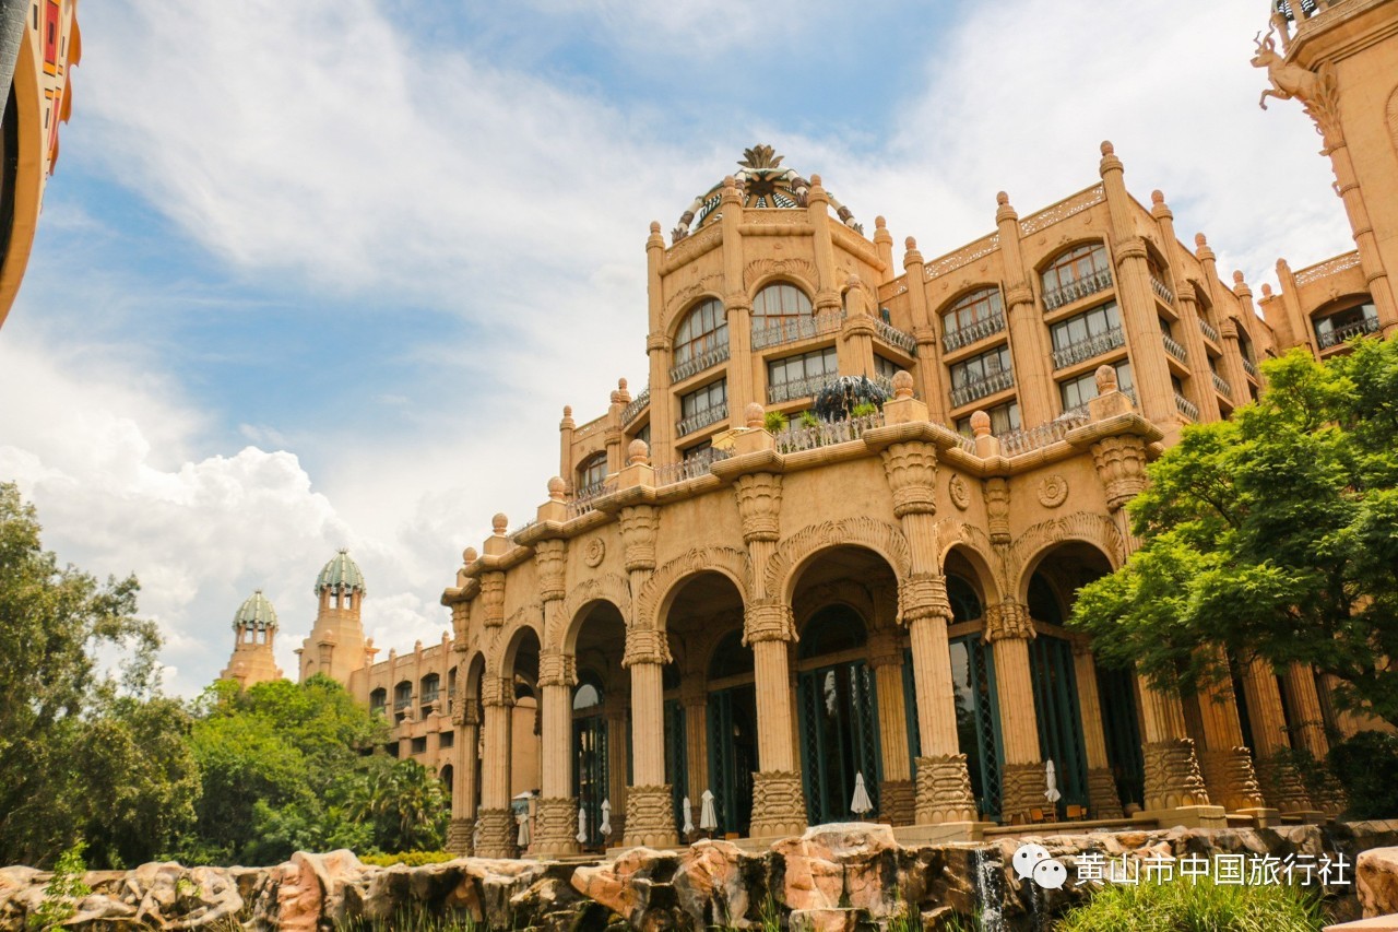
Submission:
[[1254,287],[1352,248],[1240,6],[87,4],[0,479],[63,558],[140,575],[180,693],[257,586],[294,670],[340,546],[377,644],[433,641],[460,550],[544,498],[562,406],[644,382],[647,225],[744,147],[928,257],[997,190],[1093,183],[1103,139]]

